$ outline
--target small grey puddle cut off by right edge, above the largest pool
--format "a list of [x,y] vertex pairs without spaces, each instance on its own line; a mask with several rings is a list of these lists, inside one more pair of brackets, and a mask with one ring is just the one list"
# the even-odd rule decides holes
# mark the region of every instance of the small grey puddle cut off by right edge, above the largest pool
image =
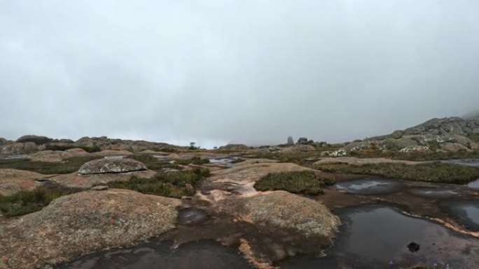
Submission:
[[479,231],[479,200],[454,201],[445,205],[458,222],[471,231]]

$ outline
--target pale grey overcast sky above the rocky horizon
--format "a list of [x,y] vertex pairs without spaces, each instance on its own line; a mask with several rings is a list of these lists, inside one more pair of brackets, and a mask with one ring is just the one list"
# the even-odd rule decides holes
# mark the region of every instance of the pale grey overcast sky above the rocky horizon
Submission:
[[479,101],[477,0],[0,0],[0,137],[391,133]]

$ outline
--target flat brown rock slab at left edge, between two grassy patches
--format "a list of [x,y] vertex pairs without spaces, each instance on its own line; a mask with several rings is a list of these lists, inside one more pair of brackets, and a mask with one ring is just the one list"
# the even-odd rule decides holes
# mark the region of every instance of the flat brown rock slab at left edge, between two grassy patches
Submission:
[[25,170],[0,169],[0,195],[8,196],[18,191],[31,191],[41,183],[37,178],[45,175]]

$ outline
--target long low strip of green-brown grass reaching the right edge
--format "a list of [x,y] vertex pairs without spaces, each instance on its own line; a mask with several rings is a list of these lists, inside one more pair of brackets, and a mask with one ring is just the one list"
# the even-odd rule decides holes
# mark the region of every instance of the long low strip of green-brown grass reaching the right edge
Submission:
[[360,175],[379,175],[398,180],[418,180],[426,182],[466,183],[477,180],[479,170],[452,163],[422,163],[407,165],[404,163],[367,163],[361,166],[347,163],[331,163],[314,166],[328,173],[346,173]]

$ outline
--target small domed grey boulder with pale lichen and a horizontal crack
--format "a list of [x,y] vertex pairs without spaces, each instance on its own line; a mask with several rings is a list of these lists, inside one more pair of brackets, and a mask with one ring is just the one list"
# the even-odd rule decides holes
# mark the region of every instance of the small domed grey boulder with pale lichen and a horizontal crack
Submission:
[[125,173],[146,170],[146,166],[133,159],[96,159],[88,161],[78,169],[78,174]]

